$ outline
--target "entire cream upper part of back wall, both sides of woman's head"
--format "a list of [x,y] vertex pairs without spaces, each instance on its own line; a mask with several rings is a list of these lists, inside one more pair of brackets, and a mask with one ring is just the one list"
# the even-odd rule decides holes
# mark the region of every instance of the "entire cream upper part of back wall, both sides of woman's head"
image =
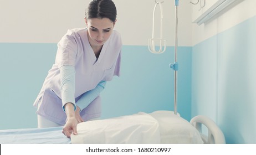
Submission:
[[[57,43],[67,29],[85,27],[84,12],[90,0],[0,0],[0,43]],[[114,0],[117,7],[116,30],[125,45],[147,45],[152,36],[154,0]],[[181,1],[179,45],[192,45],[191,4]],[[163,38],[174,44],[174,1],[163,3]],[[158,10],[157,10],[157,13]],[[160,16],[157,14],[156,22]],[[159,28],[156,27],[156,31]]]

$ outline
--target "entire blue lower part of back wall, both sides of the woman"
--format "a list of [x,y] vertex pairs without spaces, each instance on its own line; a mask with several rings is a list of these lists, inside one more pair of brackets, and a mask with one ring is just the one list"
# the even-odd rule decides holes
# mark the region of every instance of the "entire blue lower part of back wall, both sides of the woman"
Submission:
[[[173,110],[173,47],[152,54],[147,46],[124,45],[121,76],[102,92],[103,116]],[[0,130],[37,127],[33,102],[54,63],[57,44],[0,43]],[[178,48],[178,112],[191,118],[191,47]]]

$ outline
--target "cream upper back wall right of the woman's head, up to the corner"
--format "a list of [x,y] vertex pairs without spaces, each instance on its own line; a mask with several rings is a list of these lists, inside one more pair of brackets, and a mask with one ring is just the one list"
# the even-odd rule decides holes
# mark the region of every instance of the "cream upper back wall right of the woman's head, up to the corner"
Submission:
[[[161,1],[160,1],[161,2]],[[147,45],[147,39],[152,38],[152,15],[155,7],[154,0],[132,0],[115,1],[119,7],[119,22],[116,26],[122,32],[124,44]],[[167,45],[174,45],[175,33],[175,1],[168,0],[162,3],[163,6],[163,38],[167,40]],[[160,31],[159,8],[156,9],[155,33]],[[180,46],[192,45],[192,7],[188,0],[180,1],[178,7],[178,44]],[[131,35],[132,34],[132,35]]]

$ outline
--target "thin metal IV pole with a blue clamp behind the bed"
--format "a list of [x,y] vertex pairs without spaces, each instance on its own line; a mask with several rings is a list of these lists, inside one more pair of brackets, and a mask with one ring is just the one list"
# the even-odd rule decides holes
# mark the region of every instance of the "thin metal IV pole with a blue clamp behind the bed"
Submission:
[[175,53],[174,63],[170,64],[170,68],[174,70],[174,114],[177,115],[177,46],[178,46],[178,0],[175,0]]

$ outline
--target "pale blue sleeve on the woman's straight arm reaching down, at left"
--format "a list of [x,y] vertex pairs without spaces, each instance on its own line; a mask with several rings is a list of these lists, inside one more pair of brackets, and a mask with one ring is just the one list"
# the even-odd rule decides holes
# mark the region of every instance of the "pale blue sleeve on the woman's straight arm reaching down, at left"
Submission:
[[75,68],[71,65],[64,65],[60,68],[60,83],[62,92],[62,107],[65,111],[65,104],[74,104],[75,110]]

